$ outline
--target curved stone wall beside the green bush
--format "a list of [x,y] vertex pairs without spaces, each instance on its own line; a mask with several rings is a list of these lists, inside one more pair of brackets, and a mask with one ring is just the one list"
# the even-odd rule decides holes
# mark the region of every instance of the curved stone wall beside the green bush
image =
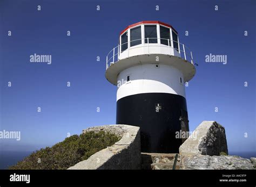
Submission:
[[130,125],[104,125],[87,128],[89,131],[105,131],[122,136],[113,146],[107,147],[68,169],[140,169],[140,130]]

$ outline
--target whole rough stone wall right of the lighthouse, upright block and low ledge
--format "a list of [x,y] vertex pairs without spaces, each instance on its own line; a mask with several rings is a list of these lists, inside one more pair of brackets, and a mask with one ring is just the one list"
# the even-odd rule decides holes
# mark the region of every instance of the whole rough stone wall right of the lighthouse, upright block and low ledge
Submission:
[[203,121],[192,135],[179,148],[180,169],[254,169],[253,158],[227,155],[225,128],[216,121]]

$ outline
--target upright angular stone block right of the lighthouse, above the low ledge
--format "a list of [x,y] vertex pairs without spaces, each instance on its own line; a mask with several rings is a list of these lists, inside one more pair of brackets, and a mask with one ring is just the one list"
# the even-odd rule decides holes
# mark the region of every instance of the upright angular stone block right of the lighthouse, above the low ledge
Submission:
[[[195,135],[194,137],[192,135]],[[225,128],[216,121],[203,121],[180,146],[179,153],[220,155],[228,154]]]

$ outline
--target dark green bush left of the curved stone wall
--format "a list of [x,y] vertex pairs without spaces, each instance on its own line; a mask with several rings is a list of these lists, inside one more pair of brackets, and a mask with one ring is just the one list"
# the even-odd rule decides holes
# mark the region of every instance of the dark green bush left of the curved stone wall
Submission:
[[104,131],[72,135],[52,147],[33,152],[9,169],[67,169],[118,140],[117,135]]

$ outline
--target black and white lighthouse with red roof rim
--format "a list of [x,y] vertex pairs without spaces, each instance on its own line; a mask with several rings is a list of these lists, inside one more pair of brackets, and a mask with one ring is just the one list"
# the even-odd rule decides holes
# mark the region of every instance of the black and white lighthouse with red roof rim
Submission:
[[185,84],[196,74],[192,52],[160,21],[127,26],[106,56],[117,86],[116,124],[140,127],[141,150],[177,153],[189,131]]

